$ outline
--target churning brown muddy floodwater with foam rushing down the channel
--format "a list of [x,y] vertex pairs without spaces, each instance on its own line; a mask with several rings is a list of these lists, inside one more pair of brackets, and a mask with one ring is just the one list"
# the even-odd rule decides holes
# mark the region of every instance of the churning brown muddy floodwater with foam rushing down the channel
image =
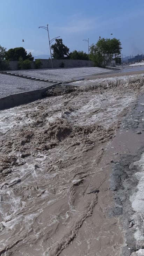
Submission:
[[0,255],[121,255],[122,224],[108,214],[99,164],[144,78],[82,83],[0,111]]

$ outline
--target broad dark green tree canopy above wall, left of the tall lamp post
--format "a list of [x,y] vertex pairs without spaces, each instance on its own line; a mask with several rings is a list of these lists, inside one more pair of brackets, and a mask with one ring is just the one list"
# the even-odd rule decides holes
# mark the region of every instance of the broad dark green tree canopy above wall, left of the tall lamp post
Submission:
[[30,61],[34,60],[34,57],[32,57],[31,52],[27,54],[27,51],[23,47],[16,47],[11,48],[6,52],[6,60],[7,61],[19,61],[20,58],[25,61],[26,59],[29,59]]

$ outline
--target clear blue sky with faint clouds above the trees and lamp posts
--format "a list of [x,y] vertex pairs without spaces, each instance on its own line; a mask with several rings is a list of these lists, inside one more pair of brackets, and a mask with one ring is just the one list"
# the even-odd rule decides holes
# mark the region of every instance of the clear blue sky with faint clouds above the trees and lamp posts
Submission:
[[0,9],[0,45],[7,49],[50,54],[48,33],[38,29],[49,24],[50,39],[60,36],[70,51],[88,52],[82,40],[91,45],[101,36],[120,39],[123,56],[144,53],[144,0],[0,0]]

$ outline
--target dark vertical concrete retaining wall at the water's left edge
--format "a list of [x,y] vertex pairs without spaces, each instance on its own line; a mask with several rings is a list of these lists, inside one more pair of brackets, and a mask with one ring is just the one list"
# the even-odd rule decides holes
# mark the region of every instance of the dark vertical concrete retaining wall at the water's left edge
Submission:
[[43,98],[43,93],[55,85],[56,84],[52,84],[52,85],[49,85],[42,89],[12,94],[12,95],[8,95],[4,98],[1,98],[0,99],[0,110],[5,109],[5,108],[19,106],[21,104],[27,104],[29,102],[33,102],[35,100],[41,99],[41,98]]

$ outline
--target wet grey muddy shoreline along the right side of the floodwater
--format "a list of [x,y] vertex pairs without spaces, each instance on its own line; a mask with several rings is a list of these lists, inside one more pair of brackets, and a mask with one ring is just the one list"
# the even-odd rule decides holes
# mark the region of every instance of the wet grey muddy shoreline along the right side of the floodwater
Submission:
[[[120,127],[122,135],[118,139],[115,138],[115,141],[121,141],[121,145],[119,156],[113,161],[110,190],[113,191],[116,207],[121,209],[119,213],[122,214],[126,243],[122,250],[123,256],[144,254],[143,211],[139,211],[138,205],[136,209],[132,207],[132,201],[135,200],[138,191],[137,173],[143,172],[143,168],[140,167],[142,163],[136,164],[139,163],[144,152],[143,103],[144,94],[141,94],[122,122]],[[124,150],[126,150],[125,154],[122,152]]]

